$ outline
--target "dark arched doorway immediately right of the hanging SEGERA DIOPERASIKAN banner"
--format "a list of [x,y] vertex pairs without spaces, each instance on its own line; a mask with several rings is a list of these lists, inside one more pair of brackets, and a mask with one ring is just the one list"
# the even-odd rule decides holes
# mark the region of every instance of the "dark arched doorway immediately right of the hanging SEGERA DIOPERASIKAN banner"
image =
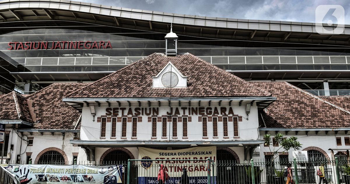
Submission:
[[[231,184],[236,183],[237,178],[244,173],[239,172],[239,158],[235,151],[230,148],[217,148],[216,150],[216,168],[217,183]],[[239,173],[237,173],[239,172]]]

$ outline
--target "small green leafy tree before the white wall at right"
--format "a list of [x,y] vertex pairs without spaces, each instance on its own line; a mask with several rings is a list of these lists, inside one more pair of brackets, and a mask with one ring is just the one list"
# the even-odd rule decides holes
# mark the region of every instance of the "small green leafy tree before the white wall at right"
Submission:
[[[288,152],[290,149],[300,150],[301,145],[299,141],[297,141],[297,137],[290,136],[289,138],[283,137],[284,135],[278,133],[274,136],[274,141],[279,144],[279,146],[271,146],[273,144],[272,137],[269,134],[264,135],[265,145],[268,145],[268,149],[272,152],[272,162],[279,155]],[[273,148],[271,150],[271,147]]]

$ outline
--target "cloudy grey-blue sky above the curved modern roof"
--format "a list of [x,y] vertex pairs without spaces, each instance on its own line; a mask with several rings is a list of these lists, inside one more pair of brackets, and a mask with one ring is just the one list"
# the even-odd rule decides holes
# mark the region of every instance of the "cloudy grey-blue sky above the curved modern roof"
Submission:
[[350,24],[349,0],[78,0],[124,8],[233,19],[315,22],[318,5],[344,7]]

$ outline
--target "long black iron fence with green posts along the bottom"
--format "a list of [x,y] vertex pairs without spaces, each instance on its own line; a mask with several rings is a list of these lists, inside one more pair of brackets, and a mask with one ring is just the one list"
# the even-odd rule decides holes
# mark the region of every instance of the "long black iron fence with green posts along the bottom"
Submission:
[[[144,159],[109,161],[102,164],[86,161],[69,163],[69,165],[76,164],[122,165],[122,184],[285,184],[288,164],[292,164],[292,178],[295,184],[350,184],[350,162],[338,159],[318,162],[297,160],[266,162],[264,159],[251,161]],[[317,175],[322,171],[323,176]],[[164,175],[164,182],[158,180],[160,173]],[[186,178],[184,173],[188,180],[183,179]],[[1,183],[12,184],[13,180],[2,172]]]

